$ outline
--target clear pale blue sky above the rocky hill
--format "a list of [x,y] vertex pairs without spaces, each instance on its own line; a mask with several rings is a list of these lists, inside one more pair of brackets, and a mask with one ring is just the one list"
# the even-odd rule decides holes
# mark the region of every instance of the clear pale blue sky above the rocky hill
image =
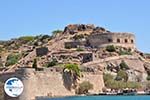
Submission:
[[150,0],[0,0],[0,40],[51,34],[68,24],[132,32],[150,53]]

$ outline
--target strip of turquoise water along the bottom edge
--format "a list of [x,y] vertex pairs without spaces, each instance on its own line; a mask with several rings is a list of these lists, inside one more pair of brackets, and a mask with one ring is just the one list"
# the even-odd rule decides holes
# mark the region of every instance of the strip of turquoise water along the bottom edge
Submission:
[[150,100],[150,96],[75,96],[42,100]]

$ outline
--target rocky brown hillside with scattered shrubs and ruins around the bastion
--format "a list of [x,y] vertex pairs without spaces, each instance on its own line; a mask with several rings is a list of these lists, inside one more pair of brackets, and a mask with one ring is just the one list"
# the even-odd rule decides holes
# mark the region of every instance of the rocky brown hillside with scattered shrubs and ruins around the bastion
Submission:
[[[145,82],[150,80],[150,57],[137,49],[108,45],[102,48],[74,46],[84,43],[91,34],[110,33],[103,27],[94,25],[73,24],[63,31],[53,31],[53,35],[23,36],[0,41],[1,73],[14,71],[19,67],[60,67],[67,63],[76,63],[82,71],[102,73],[104,79],[116,82]],[[66,42],[74,41],[72,47]],[[74,46],[74,47],[73,47]],[[110,80],[104,80],[111,88]],[[130,84],[130,83],[129,83]],[[115,87],[115,86],[114,86]]]

